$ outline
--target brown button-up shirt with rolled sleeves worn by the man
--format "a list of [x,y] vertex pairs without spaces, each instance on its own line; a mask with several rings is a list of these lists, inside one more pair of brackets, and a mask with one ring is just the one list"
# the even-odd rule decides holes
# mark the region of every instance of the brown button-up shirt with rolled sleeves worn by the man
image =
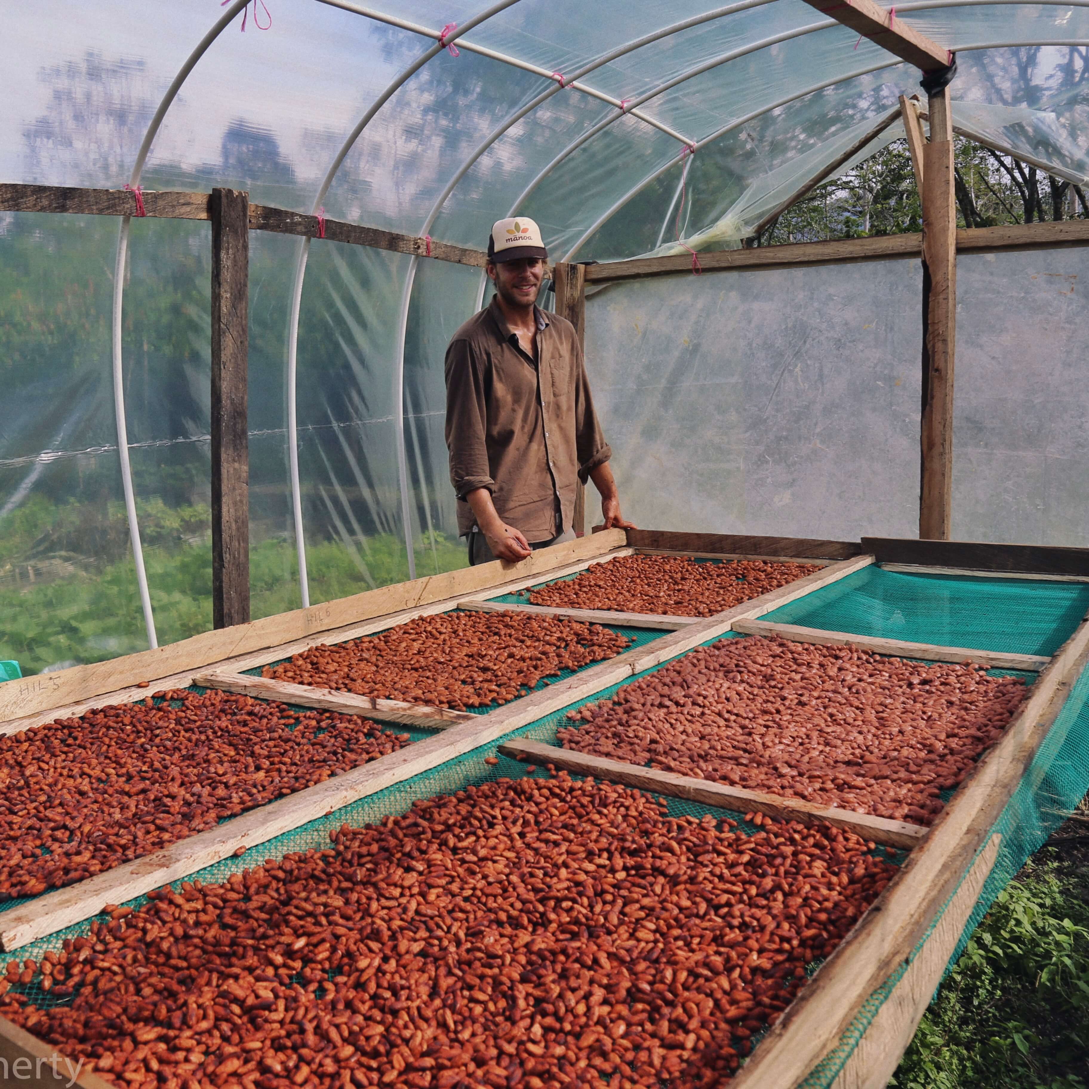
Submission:
[[494,298],[446,348],[446,445],[463,537],[476,522],[465,495],[477,488],[491,492],[499,516],[526,540],[555,537],[573,522],[576,481],[612,454],[574,327],[535,314],[536,363]]

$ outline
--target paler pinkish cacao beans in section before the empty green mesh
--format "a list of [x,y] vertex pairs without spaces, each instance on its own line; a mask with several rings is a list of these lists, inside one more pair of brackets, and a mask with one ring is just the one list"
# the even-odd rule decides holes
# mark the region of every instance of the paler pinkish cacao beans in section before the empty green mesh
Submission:
[[571,713],[564,748],[930,824],[1026,697],[1019,677],[854,647],[722,639]]

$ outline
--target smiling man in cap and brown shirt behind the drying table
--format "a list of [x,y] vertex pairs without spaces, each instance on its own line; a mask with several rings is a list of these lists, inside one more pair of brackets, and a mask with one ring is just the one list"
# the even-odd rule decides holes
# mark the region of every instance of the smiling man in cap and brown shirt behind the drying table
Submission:
[[524,560],[573,539],[576,481],[587,477],[605,528],[632,528],[575,329],[536,305],[547,257],[531,219],[495,223],[487,265],[494,297],[446,348],[450,479],[470,564]]

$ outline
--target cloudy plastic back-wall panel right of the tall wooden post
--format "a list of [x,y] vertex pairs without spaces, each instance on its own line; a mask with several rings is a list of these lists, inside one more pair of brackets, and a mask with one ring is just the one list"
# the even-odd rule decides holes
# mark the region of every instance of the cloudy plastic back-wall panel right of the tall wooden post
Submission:
[[1084,547],[1084,249],[957,258],[953,537]]

